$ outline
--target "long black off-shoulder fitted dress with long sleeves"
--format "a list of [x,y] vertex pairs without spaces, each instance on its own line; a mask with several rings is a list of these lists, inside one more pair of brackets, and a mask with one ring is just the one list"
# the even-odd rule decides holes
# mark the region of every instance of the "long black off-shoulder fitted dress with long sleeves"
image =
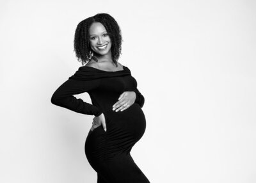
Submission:
[[[144,97],[131,76],[131,70],[104,71],[93,67],[79,67],[73,76],[53,93],[51,102],[77,113],[99,116],[104,113],[107,131],[102,125],[88,132],[85,154],[97,171],[98,183],[144,183],[147,177],[134,163],[131,149],[146,129],[145,115],[141,109]],[[124,111],[113,111],[113,104],[121,93],[133,91],[136,100]],[[88,92],[92,104],[73,95]]]

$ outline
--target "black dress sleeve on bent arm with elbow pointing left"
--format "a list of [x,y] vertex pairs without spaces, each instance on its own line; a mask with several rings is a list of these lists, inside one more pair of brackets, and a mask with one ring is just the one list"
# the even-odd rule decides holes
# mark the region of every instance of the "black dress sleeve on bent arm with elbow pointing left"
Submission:
[[99,116],[102,113],[99,107],[73,96],[93,90],[99,86],[99,83],[99,79],[93,81],[68,79],[53,93],[51,102],[56,106],[65,107],[77,113]]

